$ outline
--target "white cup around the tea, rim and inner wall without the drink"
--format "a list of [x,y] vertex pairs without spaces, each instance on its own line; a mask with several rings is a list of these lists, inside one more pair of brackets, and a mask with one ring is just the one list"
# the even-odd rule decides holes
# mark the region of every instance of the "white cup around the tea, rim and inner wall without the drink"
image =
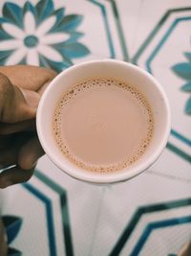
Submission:
[[[154,136],[147,150],[131,167],[105,175],[75,166],[59,150],[53,136],[53,113],[61,95],[76,82],[94,77],[109,77],[135,85],[146,97],[154,113]],[[59,169],[74,178],[100,184],[124,181],[148,169],[157,160],[167,143],[171,118],[168,100],[159,81],[133,64],[101,59],[76,64],[53,79],[40,100],[36,123],[40,143]]]

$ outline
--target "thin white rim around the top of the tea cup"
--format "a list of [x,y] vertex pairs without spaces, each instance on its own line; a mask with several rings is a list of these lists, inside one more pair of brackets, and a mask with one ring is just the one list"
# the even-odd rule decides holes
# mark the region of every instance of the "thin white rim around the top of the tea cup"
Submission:
[[[90,64],[95,64],[95,63],[103,63],[103,62],[110,62],[110,63],[118,63],[122,64],[123,66],[126,65],[128,67],[131,67],[133,69],[136,69],[139,73],[147,77],[150,81],[153,81],[159,90],[159,93],[163,99],[164,105],[165,105],[165,110],[166,110],[166,126],[165,126],[165,131],[163,132],[162,139],[159,143],[159,145],[156,146],[154,153],[148,156],[148,158],[143,162],[139,163],[137,166],[132,167],[132,169],[128,169],[127,172],[125,172],[125,169],[122,172],[114,172],[114,173],[109,173],[109,174],[95,174],[92,172],[84,171],[84,172],[79,172],[76,170],[76,172],[72,171],[70,168],[67,166],[63,166],[61,162],[56,158],[55,153],[53,151],[50,151],[49,146],[46,143],[46,140],[44,138],[44,132],[43,132],[43,122],[42,122],[42,117],[43,117],[43,108],[44,105],[46,105],[46,98],[47,95],[51,93],[53,90],[53,87],[57,83],[57,81],[60,80],[61,77],[65,76],[65,74],[72,72],[74,69],[78,68],[79,66],[87,66]],[[57,75],[53,81],[50,82],[49,86],[46,88],[45,92],[43,93],[40,103],[37,108],[37,114],[36,114],[36,128],[37,128],[37,134],[39,141],[46,152],[46,154],[49,156],[49,158],[53,161],[53,163],[61,169],[64,173],[67,175],[73,176],[76,179],[86,181],[86,182],[91,182],[91,183],[99,183],[99,184],[106,184],[106,183],[116,183],[120,181],[125,181],[127,179],[130,179],[132,177],[135,177],[136,175],[141,174],[144,172],[146,169],[148,169],[158,158],[163,149],[166,146],[169,134],[170,134],[170,129],[171,129],[171,112],[170,112],[170,106],[168,103],[167,96],[160,85],[159,81],[157,81],[151,74],[149,74],[147,71],[142,69],[141,67],[138,67],[132,63],[129,62],[124,62],[122,60],[117,60],[117,59],[96,59],[96,60],[89,60],[81,63],[77,63],[72,67],[69,67],[66,70],[63,70],[59,75]]]

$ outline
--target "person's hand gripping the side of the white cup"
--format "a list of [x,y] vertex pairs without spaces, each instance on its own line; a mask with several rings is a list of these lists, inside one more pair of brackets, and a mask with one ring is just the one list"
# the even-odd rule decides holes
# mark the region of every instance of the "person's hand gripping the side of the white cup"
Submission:
[[56,75],[36,66],[0,67],[0,169],[7,168],[0,173],[0,188],[29,180],[44,154],[35,115],[43,91]]

